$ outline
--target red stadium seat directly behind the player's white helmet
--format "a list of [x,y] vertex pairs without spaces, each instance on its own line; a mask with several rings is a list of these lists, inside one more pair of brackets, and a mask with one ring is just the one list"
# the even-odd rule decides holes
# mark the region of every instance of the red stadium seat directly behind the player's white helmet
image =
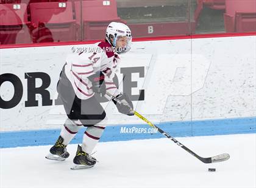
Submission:
[[[80,27],[80,1],[75,2],[76,21]],[[82,39],[104,39],[107,25],[112,22],[124,22],[117,15],[116,1],[82,1]]]

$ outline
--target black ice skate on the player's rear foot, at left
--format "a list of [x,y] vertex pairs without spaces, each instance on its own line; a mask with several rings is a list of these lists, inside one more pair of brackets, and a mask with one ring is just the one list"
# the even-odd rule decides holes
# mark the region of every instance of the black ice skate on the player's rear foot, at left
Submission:
[[54,146],[51,147],[49,155],[47,155],[46,159],[64,161],[68,158],[69,153],[66,151],[66,146],[63,143],[62,136],[59,136]]

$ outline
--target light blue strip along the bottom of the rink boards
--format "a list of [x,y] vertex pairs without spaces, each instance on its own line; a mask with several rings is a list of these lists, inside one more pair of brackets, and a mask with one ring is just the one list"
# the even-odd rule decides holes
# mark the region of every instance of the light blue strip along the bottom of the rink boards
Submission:
[[[147,124],[107,126],[100,141],[126,141],[163,137],[160,133],[120,133],[121,127],[130,126],[137,128],[149,127]],[[165,122],[157,124],[157,126],[174,137],[256,133],[256,117]],[[0,132],[0,148],[51,145],[55,143],[59,133],[60,129]],[[84,131],[80,130],[71,144],[81,143],[83,134]]]

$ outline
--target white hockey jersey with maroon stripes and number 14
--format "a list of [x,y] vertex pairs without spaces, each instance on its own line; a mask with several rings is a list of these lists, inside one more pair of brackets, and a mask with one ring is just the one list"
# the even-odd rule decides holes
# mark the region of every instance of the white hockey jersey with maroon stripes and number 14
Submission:
[[[65,73],[71,82],[74,92],[80,99],[88,99],[94,95],[91,81],[87,78],[101,71],[105,75],[107,92],[116,96],[119,93],[113,83],[113,77],[118,70],[119,57],[112,51],[108,42],[97,42],[91,52],[68,55]],[[92,52],[93,51],[93,52]],[[105,95],[110,99],[107,95]]]

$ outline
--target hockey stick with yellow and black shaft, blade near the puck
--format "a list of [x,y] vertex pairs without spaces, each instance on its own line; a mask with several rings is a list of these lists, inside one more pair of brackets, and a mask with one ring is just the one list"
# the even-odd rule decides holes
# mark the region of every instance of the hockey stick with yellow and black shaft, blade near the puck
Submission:
[[[119,104],[121,103],[121,101],[119,101],[118,99],[115,98],[115,96],[111,95],[110,93],[106,92],[106,94],[108,96],[110,96],[114,101],[118,102]],[[149,126],[154,127],[155,129],[158,130],[158,132],[162,133],[162,135],[166,136],[166,138],[171,139],[171,141],[173,141],[174,143],[176,143],[178,146],[182,147],[182,149],[186,150],[188,153],[190,153],[191,155],[195,156],[197,159],[199,159],[200,161],[202,161],[203,163],[219,163],[222,161],[226,161],[227,159],[230,158],[228,153],[223,153],[221,155],[216,155],[216,156],[212,156],[212,157],[207,157],[204,158],[202,156],[197,155],[196,153],[194,153],[193,151],[191,151],[190,149],[188,149],[186,146],[184,146],[182,143],[180,143],[179,141],[177,141],[177,139],[173,138],[172,136],[170,136],[168,133],[164,132],[162,129],[160,129],[159,127],[155,126],[154,124],[152,124],[148,119],[144,118],[144,116],[140,115],[140,113],[134,111],[134,115],[137,116],[138,118],[142,119],[143,121],[145,121],[146,123],[149,124]]]

